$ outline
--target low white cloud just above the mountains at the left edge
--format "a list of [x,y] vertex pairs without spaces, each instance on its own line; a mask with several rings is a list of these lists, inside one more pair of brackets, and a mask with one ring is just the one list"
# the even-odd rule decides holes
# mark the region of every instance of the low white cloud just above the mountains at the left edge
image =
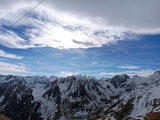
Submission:
[[11,64],[0,61],[0,74],[23,74],[27,73],[28,68],[23,64]]

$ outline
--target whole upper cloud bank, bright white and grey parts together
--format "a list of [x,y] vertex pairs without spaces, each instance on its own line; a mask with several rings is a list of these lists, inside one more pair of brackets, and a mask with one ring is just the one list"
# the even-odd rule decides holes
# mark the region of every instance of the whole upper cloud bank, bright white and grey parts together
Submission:
[[0,0],[0,44],[10,48],[92,48],[126,40],[134,34],[160,33],[159,1]]

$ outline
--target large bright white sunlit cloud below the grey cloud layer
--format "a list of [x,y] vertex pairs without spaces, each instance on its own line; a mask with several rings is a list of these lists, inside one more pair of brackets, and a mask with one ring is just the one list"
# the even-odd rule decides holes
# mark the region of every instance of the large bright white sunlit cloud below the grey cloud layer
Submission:
[[[0,17],[2,25],[14,23],[14,18],[23,16],[31,5],[21,3],[12,5],[12,11],[3,11]],[[60,12],[42,5],[14,27],[21,28],[22,25],[24,32],[21,35],[8,30],[1,35],[0,44],[22,49],[46,46],[58,49],[91,48],[111,44],[125,37],[123,27],[99,24],[85,16]]]

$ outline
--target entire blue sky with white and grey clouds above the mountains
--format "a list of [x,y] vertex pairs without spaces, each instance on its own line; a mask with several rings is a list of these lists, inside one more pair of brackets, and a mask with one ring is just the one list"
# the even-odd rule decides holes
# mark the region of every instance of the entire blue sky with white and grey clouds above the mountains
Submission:
[[160,70],[160,0],[40,2],[0,0],[0,74],[147,77]]

